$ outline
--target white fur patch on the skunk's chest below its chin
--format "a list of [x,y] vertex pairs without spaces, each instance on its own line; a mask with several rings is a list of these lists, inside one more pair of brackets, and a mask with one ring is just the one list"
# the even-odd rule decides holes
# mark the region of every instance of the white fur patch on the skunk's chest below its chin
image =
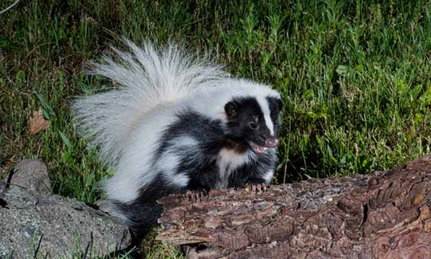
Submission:
[[247,164],[254,158],[253,152],[245,152],[239,154],[232,149],[222,148],[219,152],[219,157],[217,159],[217,166],[219,167],[220,182],[217,184],[217,189],[225,189],[229,184],[229,177],[232,172],[239,166]]

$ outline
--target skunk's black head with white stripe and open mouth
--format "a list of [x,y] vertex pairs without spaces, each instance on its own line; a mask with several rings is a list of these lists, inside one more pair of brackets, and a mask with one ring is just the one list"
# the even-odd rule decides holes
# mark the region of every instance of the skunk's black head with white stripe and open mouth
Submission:
[[255,153],[275,148],[279,143],[282,106],[283,102],[277,97],[232,99],[225,104],[229,135],[243,140]]

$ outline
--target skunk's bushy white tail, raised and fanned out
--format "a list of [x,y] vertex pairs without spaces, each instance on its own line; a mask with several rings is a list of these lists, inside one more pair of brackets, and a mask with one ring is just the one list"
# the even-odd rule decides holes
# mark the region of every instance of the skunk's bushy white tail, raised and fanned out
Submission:
[[77,129],[97,146],[99,157],[114,166],[123,144],[148,111],[186,97],[190,90],[212,86],[228,74],[219,66],[197,59],[178,46],[163,49],[146,42],[143,47],[124,40],[128,52],[112,48],[114,55],[92,63],[90,75],[108,77],[117,88],[81,97],[72,106]]

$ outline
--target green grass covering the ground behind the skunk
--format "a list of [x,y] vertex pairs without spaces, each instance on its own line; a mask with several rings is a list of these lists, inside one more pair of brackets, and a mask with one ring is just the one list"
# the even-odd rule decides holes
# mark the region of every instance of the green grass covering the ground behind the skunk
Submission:
[[[41,158],[56,193],[100,197],[97,182],[110,171],[77,137],[69,105],[106,84],[82,68],[120,35],[181,42],[277,88],[285,106],[275,183],[385,170],[430,153],[428,1],[35,0],[0,15],[3,171]],[[30,136],[39,106],[50,127]]]

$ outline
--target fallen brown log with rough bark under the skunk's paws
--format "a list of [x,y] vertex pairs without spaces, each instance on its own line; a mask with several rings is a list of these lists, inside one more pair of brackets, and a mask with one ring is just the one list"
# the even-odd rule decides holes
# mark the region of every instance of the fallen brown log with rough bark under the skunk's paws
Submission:
[[189,258],[431,258],[431,156],[386,172],[163,198]]

